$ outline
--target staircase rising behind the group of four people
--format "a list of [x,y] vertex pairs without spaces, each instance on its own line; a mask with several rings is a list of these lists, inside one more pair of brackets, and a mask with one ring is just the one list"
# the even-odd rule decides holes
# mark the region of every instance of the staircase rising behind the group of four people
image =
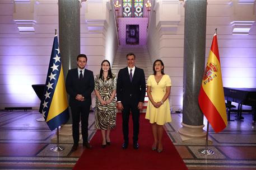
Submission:
[[[145,73],[146,82],[148,76],[153,74],[153,67],[151,64],[150,56],[148,55],[147,47],[141,45],[131,45],[131,46],[119,46],[117,50],[117,54],[115,54],[114,62],[112,64],[111,70],[112,73],[118,75],[120,69],[127,67],[127,59],[126,55],[128,53],[133,53],[136,55],[135,58],[135,66],[142,68]],[[147,109],[147,93],[145,97],[145,103],[143,103],[143,109],[141,110],[142,113],[146,112]],[[117,112],[121,112],[117,110]]]

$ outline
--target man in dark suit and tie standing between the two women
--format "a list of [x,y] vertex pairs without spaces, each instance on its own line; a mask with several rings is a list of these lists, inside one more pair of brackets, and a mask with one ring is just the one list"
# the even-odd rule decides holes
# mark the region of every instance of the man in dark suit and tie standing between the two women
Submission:
[[127,65],[119,70],[117,79],[117,105],[122,110],[123,119],[123,149],[129,144],[129,115],[132,113],[133,120],[133,148],[138,149],[139,134],[139,110],[142,109],[145,93],[146,82],[143,69],[135,67],[135,55],[129,53],[126,55]]

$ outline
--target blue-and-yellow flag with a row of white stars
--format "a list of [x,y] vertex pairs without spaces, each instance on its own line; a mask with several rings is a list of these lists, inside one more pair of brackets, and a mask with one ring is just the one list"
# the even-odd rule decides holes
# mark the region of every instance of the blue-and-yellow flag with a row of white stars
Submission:
[[44,96],[40,105],[43,108],[42,113],[50,130],[54,130],[68,121],[67,93],[57,35],[55,35],[53,41]]

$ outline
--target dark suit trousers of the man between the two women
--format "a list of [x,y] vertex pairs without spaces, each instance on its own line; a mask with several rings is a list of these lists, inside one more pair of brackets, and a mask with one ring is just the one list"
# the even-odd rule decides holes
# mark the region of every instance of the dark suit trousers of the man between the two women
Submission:
[[132,121],[133,121],[133,143],[137,143],[138,134],[139,134],[139,109],[138,103],[135,105],[134,103],[123,104],[122,111],[122,119],[123,119],[123,135],[124,142],[129,143],[129,117],[132,113]]

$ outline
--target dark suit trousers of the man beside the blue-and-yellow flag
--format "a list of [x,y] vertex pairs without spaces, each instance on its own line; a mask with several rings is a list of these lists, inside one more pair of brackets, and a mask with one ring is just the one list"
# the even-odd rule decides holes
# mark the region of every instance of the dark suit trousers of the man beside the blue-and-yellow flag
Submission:
[[81,117],[81,131],[83,143],[88,142],[88,119],[89,119],[90,105],[71,106],[72,113],[72,135],[74,144],[79,142],[79,122]]

